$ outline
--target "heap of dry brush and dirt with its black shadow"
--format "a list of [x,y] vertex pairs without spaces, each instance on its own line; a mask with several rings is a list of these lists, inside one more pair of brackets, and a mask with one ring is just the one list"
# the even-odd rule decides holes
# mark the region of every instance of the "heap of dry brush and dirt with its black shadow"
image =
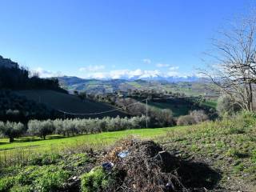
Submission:
[[107,191],[206,191],[219,178],[208,166],[178,159],[152,141],[118,142],[103,162],[115,178]]

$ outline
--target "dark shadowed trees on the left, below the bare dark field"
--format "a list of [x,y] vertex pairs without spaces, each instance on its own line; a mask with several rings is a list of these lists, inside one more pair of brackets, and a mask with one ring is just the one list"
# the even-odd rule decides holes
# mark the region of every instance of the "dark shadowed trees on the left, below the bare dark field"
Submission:
[[0,120],[27,122],[31,118],[54,118],[54,110],[47,106],[14,94],[10,90],[0,90]]

